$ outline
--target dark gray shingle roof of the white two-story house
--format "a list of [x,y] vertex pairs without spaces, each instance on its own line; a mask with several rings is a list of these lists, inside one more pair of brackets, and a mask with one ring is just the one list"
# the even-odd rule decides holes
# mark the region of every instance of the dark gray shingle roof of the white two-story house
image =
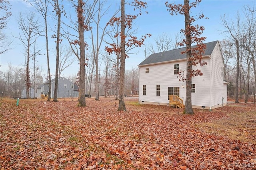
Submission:
[[[204,50],[204,56],[212,54],[212,51],[216,46],[217,42],[218,41],[204,43],[206,45],[206,49]],[[195,47],[195,46],[196,45],[193,45],[192,47]],[[182,48],[173,49],[170,51],[151,54],[148,58],[142,61],[138,66],[153,64],[153,63],[162,63],[162,62],[173,61],[177,59],[186,59],[186,53],[181,54],[181,52],[185,50],[186,50],[186,47],[182,47]]]

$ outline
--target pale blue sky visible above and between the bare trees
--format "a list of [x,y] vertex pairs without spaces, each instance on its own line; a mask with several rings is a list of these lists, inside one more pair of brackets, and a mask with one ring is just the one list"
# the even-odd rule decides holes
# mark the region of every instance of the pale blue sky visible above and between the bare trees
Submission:
[[[116,4],[120,1],[108,1],[108,4],[112,4],[112,9],[116,8]],[[167,11],[167,7],[165,6],[166,1],[162,0],[150,0],[147,1],[148,14],[144,13],[138,19],[134,21],[134,26],[138,28],[137,37],[141,35],[150,33],[152,37],[147,38],[145,40],[146,47],[149,43],[154,43],[154,39],[158,36],[161,36],[163,33],[168,34],[170,36],[174,36],[179,33],[182,28],[184,28],[184,16],[177,15],[171,16]],[[169,3],[175,2],[183,3],[182,0],[169,1]],[[64,2],[67,3],[67,2]],[[8,22],[7,29],[3,30],[3,32],[12,40],[11,48],[6,53],[0,56],[0,67],[1,71],[6,71],[8,68],[8,63],[11,63],[14,67],[18,67],[24,64],[24,47],[21,45],[20,41],[13,36],[18,36],[20,30],[18,29],[17,18],[19,12],[33,11],[34,9],[23,2],[22,0],[10,0],[10,4],[12,5],[12,17]],[[209,19],[201,19],[197,20],[196,24],[204,26],[206,29],[204,31],[203,36],[206,36],[205,42],[212,42],[215,40],[223,40],[226,38],[225,34],[222,34],[221,30],[224,30],[221,25],[220,17],[228,16],[230,20],[236,20],[235,16],[240,11],[242,15],[243,6],[250,5],[253,6],[255,4],[255,0],[202,0],[197,8],[192,8],[192,13],[190,16],[195,16],[196,14],[203,13],[205,17]],[[67,4],[66,4],[67,6]],[[72,8],[66,9],[67,12]],[[130,14],[133,12],[131,9],[126,8],[126,14]],[[110,12],[111,13],[111,12]],[[38,17],[40,15],[38,14]],[[53,26],[54,27],[54,26]],[[52,33],[50,33],[52,35]],[[50,38],[51,50],[54,51],[55,44],[54,40]],[[64,41],[62,45],[68,44]],[[38,47],[44,47],[43,39],[38,41]],[[126,69],[132,69],[132,67],[137,67],[139,63],[141,63],[145,59],[144,55],[144,46],[140,48],[136,48],[134,53],[131,54],[128,59],[126,59]],[[41,55],[37,57],[37,65],[41,65],[44,68],[44,72],[47,71],[46,65],[46,56]],[[50,69],[52,73],[55,73],[55,65],[56,65],[55,53],[51,53],[50,59]],[[32,65],[32,62],[30,63]],[[20,66],[22,67],[22,66]],[[78,71],[78,62],[76,61],[72,67],[67,68],[64,71],[64,76],[68,77],[68,75],[76,74]],[[103,70],[103,68],[101,68]]]

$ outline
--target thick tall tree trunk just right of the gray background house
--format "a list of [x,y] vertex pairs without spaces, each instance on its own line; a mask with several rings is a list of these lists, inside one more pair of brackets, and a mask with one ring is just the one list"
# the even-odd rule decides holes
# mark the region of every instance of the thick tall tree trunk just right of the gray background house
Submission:
[[78,106],[86,106],[85,102],[85,43],[84,43],[84,16],[83,16],[83,5],[82,0],[78,0],[78,34],[80,41],[80,76],[79,76],[79,102]]

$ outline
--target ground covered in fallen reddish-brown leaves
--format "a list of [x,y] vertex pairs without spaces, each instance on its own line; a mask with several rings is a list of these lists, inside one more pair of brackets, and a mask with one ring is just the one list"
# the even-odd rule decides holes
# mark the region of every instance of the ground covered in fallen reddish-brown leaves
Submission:
[[[1,101],[0,169],[256,169],[253,104],[184,115],[137,101],[120,112],[115,102]],[[234,140],[232,128],[246,137]]]

